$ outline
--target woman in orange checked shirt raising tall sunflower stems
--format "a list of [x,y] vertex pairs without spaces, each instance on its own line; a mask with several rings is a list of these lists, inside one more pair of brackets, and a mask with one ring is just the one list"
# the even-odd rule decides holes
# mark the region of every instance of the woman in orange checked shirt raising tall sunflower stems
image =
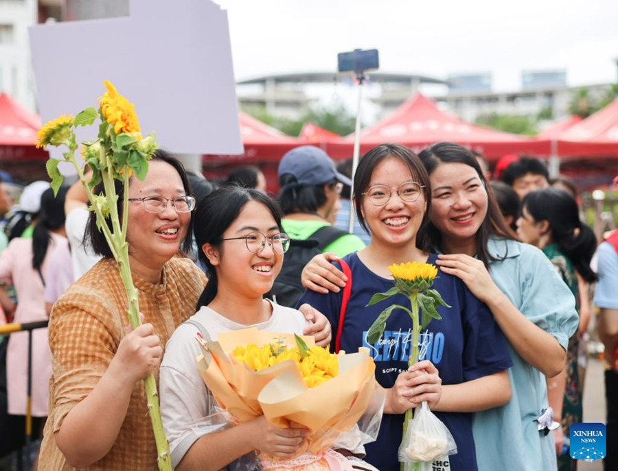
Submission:
[[[122,211],[120,182],[116,191]],[[144,316],[135,330],[117,264],[91,213],[93,252],[103,258],[60,297],[49,319],[53,373],[40,455],[46,470],[157,468],[141,380],[157,374],[165,342],[190,316],[206,282],[194,263],[176,257],[189,248],[195,204],[189,191],[182,164],[161,150],[144,181],[130,179],[126,240]]]

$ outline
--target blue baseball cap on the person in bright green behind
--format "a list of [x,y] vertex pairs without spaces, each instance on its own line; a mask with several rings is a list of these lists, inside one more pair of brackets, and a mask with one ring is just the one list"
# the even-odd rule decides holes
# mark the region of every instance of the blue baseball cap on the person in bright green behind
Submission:
[[277,177],[290,173],[295,176],[299,186],[317,186],[337,180],[352,186],[352,180],[339,173],[332,158],[314,145],[301,145],[286,152],[279,162]]

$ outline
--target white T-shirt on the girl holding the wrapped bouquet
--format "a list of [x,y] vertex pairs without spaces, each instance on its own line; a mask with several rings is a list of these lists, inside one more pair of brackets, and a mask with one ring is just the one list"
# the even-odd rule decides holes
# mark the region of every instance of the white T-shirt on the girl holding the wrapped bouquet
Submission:
[[[256,327],[271,332],[302,334],[310,322],[296,309],[279,306],[271,302],[273,315],[266,322],[246,326],[223,317],[207,306],[203,306],[191,319],[202,324],[212,340],[221,332]],[[196,357],[201,352],[196,342],[198,328],[193,324],[181,324],[168,341],[165,355],[159,369],[159,396],[161,418],[165,435],[170,441],[172,467],[178,466],[186,452],[205,435],[220,427],[199,424],[203,418],[216,413],[216,401],[209,393],[196,367]],[[212,419],[209,422],[216,422]],[[221,426],[227,420],[221,419]]]

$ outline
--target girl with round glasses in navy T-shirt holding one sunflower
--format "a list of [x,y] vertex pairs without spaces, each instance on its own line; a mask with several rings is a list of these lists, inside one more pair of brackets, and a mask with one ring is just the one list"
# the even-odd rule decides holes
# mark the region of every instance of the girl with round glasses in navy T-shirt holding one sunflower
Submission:
[[[376,362],[376,379],[387,389],[380,434],[376,442],[365,446],[365,459],[380,470],[398,469],[404,412],[427,401],[457,444],[457,454],[446,458],[449,469],[474,471],[471,413],[510,399],[505,370],[512,363],[505,339],[491,313],[464,283],[440,273],[433,287],[451,307],[439,307],[442,320],[433,320],[422,331],[422,361],[408,367],[412,322],[400,309],[393,311],[378,342],[369,344],[367,330],[388,304],[409,305],[407,298],[397,295],[389,298],[388,304],[366,306],[374,293],[393,287],[389,265],[435,263],[437,259],[415,243],[427,223],[431,192],[427,172],[417,156],[393,144],[380,145],[363,156],[354,189],[360,195],[355,200],[356,215],[361,226],[370,230],[371,242],[343,257],[350,265],[352,291],[340,333],[341,349],[369,348]],[[333,328],[339,325],[341,300],[341,292],[306,291],[301,297],[301,302],[324,313]],[[445,459],[440,461],[444,466]]]

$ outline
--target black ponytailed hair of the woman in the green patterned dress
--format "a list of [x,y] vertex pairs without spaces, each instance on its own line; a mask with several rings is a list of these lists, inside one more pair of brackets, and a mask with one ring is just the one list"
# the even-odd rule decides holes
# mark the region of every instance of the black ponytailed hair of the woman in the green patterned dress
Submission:
[[591,283],[597,275],[590,267],[590,261],[597,249],[597,239],[591,228],[583,224],[575,199],[559,188],[544,188],[531,191],[521,202],[535,221],[547,221],[551,238],[577,272]]

